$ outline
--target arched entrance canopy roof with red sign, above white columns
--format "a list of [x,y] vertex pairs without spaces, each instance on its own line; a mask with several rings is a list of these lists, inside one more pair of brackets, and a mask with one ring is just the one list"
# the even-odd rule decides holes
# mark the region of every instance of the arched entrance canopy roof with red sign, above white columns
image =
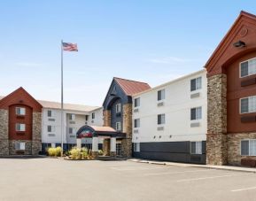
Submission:
[[117,132],[111,127],[97,127],[85,125],[76,132],[76,138],[108,136],[124,138],[125,134]]

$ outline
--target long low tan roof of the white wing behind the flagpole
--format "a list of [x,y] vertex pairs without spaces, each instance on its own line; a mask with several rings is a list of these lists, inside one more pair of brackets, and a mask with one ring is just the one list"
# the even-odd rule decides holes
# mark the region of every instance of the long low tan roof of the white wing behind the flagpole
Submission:
[[[43,101],[43,100],[38,100],[38,102],[42,104],[44,108],[61,109],[61,104],[58,102]],[[98,106],[89,106],[89,105],[83,105],[83,104],[64,104],[63,107],[65,110],[81,111],[81,112],[90,112],[90,111],[96,110],[97,108],[100,108]]]

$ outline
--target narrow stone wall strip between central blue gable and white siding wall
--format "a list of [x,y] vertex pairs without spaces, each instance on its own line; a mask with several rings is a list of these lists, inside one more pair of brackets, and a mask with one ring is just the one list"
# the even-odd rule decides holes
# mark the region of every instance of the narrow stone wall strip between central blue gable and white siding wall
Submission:
[[124,157],[132,156],[132,104],[123,105],[123,127],[126,139],[122,140],[122,152]]

